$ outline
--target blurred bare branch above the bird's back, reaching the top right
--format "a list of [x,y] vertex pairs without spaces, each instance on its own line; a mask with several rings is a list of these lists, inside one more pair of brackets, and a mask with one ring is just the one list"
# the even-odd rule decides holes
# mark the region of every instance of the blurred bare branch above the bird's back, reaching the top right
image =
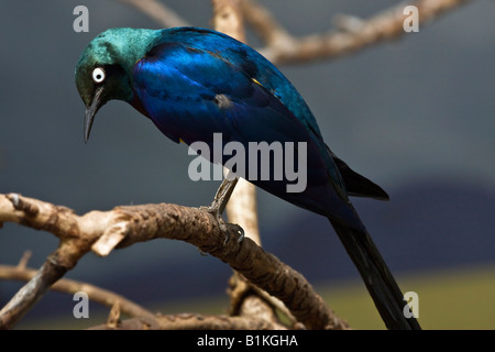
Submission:
[[[417,0],[410,1],[409,4],[418,8],[419,23],[424,24],[471,1],[473,0]],[[260,53],[276,64],[334,58],[406,34],[404,20],[407,15],[403,13],[405,3],[385,10],[369,20],[352,16],[352,23],[345,21],[343,31],[340,21],[341,31],[299,38],[289,35],[270,12],[254,0],[241,0],[241,4],[246,20],[266,41],[267,45],[260,48]]]

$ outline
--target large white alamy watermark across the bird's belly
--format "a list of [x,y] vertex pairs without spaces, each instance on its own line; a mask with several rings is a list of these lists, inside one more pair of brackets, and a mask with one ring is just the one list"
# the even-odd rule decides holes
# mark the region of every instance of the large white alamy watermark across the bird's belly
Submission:
[[[222,180],[223,166],[231,170],[226,178],[242,177],[250,182],[286,180],[287,193],[301,193],[307,186],[306,142],[241,142],[223,144],[222,133],[213,133],[212,151],[206,142],[194,142],[188,154],[197,155],[188,167],[191,180]],[[226,156],[231,156],[226,158]],[[213,164],[211,164],[211,163]],[[212,168],[212,169],[211,169]]]

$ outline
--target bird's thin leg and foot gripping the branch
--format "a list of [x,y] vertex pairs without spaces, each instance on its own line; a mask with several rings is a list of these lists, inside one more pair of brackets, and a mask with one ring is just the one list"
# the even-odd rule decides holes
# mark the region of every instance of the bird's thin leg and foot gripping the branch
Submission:
[[235,185],[238,184],[238,178],[230,179],[229,175],[226,176],[226,178],[222,180],[220,187],[217,190],[217,194],[215,195],[213,201],[209,207],[207,207],[207,211],[213,215],[213,217],[217,219],[218,224],[220,229],[227,233],[226,241],[229,240],[229,234],[231,231],[234,231],[239,234],[238,241],[241,242],[244,239],[244,230],[234,223],[226,223],[222,219],[222,213],[226,210],[226,206],[229,202],[230,196],[232,196],[232,191],[235,188]]

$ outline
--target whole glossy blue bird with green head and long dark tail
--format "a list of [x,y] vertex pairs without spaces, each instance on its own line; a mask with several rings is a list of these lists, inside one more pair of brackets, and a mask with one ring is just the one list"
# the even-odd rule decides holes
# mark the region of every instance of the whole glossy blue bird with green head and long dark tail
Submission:
[[[99,109],[122,100],[168,139],[189,146],[195,142],[213,146],[215,134],[221,135],[223,145],[237,142],[246,148],[254,142],[277,142],[283,147],[305,143],[305,150],[296,147],[293,153],[298,160],[306,152],[304,190],[287,191],[288,177],[256,177],[260,170],[246,179],[327,217],[386,328],[421,329],[414,316],[406,318],[400,288],[350,200],[388,200],[388,195],[329,148],[305,99],[257,51],[202,28],[109,29],[82,51],[75,78],[86,107],[85,142]],[[210,155],[209,161],[224,165],[229,155],[216,161]]]

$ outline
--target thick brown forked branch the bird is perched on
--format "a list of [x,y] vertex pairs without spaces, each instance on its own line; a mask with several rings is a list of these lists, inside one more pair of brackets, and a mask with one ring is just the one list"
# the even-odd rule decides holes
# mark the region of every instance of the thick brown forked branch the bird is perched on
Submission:
[[158,204],[77,216],[65,207],[10,194],[0,195],[0,222],[4,221],[48,231],[61,241],[38,273],[0,311],[3,328],[13,327],[89,251],[108,255],[114,248],[160,238],[186,241],[228,263],[251,283],[284,301],[309,329],[346,328],[302,275],[252,240],[239,242],[234,227],[227,227],[224,232],[204,209]]

